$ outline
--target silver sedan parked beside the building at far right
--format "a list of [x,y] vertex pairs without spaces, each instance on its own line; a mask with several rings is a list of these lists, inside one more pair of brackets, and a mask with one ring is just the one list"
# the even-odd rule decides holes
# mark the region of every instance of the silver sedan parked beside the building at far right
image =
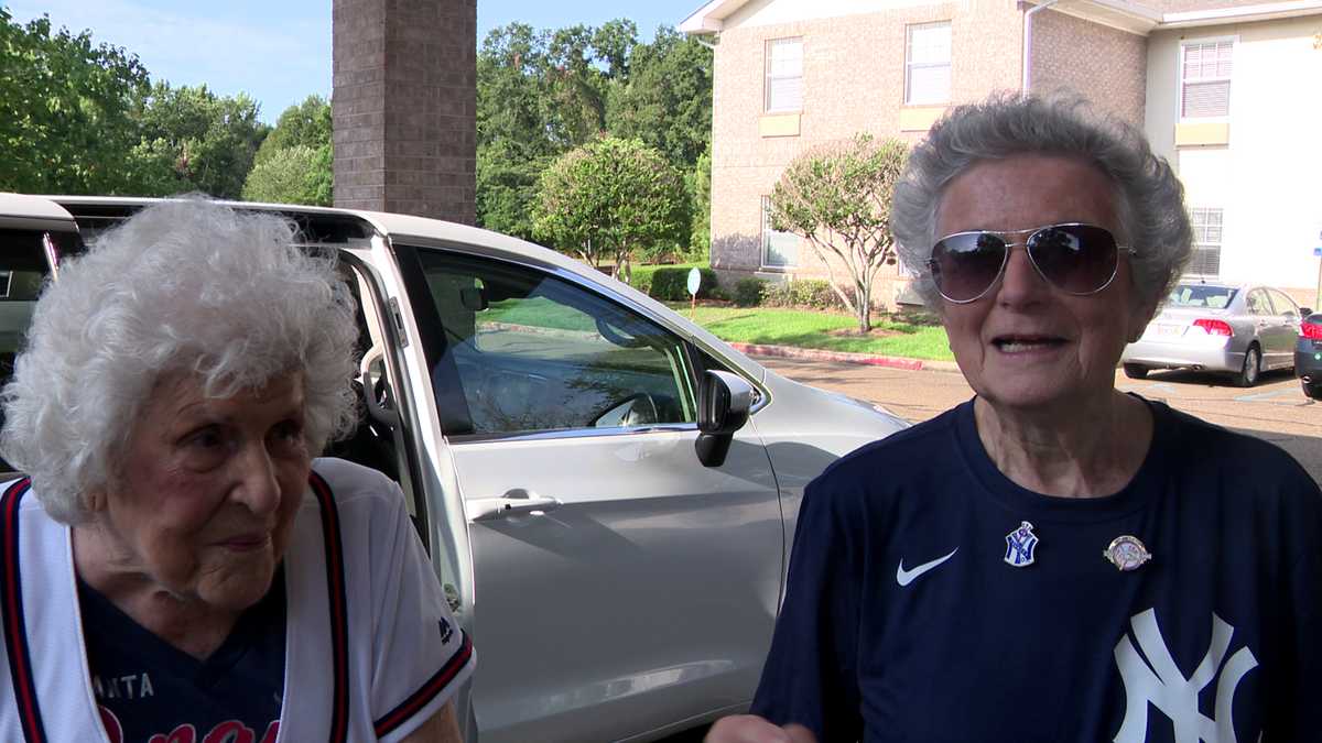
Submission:
[[1294,365],[1300,317],[1309,312],[1270,287],[1186,280],[1120,361],[1136,379],[1151,369],[1194,369],[1251,387],[1261,372]]

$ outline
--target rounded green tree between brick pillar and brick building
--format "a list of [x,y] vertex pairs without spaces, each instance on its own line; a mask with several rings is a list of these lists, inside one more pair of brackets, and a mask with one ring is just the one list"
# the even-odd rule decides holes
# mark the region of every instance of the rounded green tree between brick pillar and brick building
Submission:
[[680,172],[639,140],[602,137],[567,152],[538,182],[533,231],[619,275],[631,255],[673,251],[689,225]]

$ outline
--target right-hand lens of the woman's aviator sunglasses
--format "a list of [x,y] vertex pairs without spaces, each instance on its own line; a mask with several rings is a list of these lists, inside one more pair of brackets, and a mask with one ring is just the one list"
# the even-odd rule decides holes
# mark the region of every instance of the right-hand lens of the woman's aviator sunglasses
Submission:
[[1059,225],[1029,238],[1038,271],[1069,293],[1092,293],[1116,275],[1116,238],[1092,225]]

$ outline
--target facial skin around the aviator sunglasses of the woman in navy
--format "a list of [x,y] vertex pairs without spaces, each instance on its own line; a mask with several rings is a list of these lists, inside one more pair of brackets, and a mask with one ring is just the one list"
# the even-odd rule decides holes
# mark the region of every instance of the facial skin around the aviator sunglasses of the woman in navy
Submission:
[[[936,237],[1066,222],[1107,227],[1124,245],[1114,188],[1101,171],[1072,157],[1017,155],[978,163],[951,181]],[[1124,254],[1110,286],[1075,296],[1043,280],[1015,247],[986,295],[968,304],[941,300],[941,317],[960,370],[984,399],[1068,410],[1113,390],[1120,353],[1151,316],[1130,296]]]

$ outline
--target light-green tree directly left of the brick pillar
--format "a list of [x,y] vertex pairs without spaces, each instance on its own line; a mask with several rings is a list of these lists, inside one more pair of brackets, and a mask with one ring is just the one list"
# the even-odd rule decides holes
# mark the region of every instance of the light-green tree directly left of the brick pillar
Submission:
[[333,185],[330,104],[309,95],[276,119],[253,159],[242,196],[247,201],[330,206]]

